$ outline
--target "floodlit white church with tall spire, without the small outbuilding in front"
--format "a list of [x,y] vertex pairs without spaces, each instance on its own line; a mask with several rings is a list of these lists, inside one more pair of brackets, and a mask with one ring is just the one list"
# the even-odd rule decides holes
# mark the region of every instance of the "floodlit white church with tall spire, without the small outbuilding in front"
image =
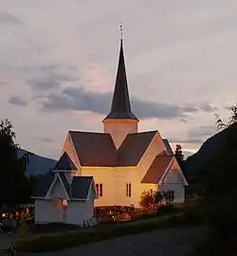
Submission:
[[[188,183],[168,140],[157,130],[139,132],[138,124],[131,107],[121,39],[114,94],[110,112],[102,120],[103,132],[69,131],[58,162],[61,168],[56,166],[55,171],[64,172],[68,179],[93,176],[96,207],[139,208],[142,192],[151,190],[171,191],[171,200],[183,203]],[[72,164],[64,167],[61,162]]]

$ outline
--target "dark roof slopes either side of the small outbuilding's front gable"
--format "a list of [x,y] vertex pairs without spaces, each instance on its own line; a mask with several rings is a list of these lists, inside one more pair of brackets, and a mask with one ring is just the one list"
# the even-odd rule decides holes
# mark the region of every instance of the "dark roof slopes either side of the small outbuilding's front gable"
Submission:
[[[69,198],[71,200],[86,200],[88,193],[91,188],[91,184],[93,181],[92,176],[74,176],[72,179],[72,183],[69,184],[65,175],[60,173],[60,178],[63,181],[63,186]],[[32,194],[34,198],[45,198],[46,193],[48,192],[51,184],[54,181],[54,178],[57,178],[57,174],[50,174],[50,179],[48,179],[48,175],[41,175],[42,179],[38,180],[38,188]],[[44,177],[43,177],[44,176]],[[47,181],[47,183],[45,183]],[[47,186],[45,186],[47,184]]]

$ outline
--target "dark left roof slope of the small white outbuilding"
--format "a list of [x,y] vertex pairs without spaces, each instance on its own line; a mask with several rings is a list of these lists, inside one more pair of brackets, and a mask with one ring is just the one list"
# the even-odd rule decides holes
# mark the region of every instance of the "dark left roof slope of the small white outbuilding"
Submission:
[[37,182],[32,192],[32,197],[45,197],[54,179],[54,174],[37,176]]

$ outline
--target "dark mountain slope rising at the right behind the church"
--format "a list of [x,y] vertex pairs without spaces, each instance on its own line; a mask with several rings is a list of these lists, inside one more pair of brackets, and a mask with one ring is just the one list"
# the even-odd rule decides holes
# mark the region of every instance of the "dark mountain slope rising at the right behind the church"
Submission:
[[206,169],[212,161],[235,153],[237,154],[237,123],[208,138],[197,153],[189,156],[185,162],[185,173],[189,179],[189,176],[196,176],[202,171],[208,172]]

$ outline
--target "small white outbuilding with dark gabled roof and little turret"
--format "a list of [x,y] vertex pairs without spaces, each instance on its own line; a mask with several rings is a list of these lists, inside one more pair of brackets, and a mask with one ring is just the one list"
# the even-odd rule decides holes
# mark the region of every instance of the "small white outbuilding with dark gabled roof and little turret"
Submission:
[[77,168],[64,153],[53,174],[38,176],[32,198],[35,199],[35,223],[63,223],[83,226],[95,224],[94,200],[98,197],[92,176],[73,176]]

